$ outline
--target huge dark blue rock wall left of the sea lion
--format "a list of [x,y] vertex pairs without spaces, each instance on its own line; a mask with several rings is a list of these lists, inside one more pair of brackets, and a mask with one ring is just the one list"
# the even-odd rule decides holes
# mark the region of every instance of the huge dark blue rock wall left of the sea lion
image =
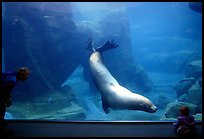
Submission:
[[[31,98],[59,91],[85,59],[81,45],[89,36],[76,29],[70,4],[11,2],[5,3],[5,8],[2,40],[6,70],[27,66],[32,71],[24,87],[18,84],[16,91]],[[23,96],[27,97],[21,94],[18,99]]]

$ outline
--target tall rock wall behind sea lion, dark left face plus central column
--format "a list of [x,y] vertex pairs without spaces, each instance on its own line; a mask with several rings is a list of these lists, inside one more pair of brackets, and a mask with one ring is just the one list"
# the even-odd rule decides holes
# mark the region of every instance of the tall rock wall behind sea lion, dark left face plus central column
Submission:
[[[15,87],[15,98],[60,92],[60,85],[79,64],[85,71],[88,69],[89,53],[83,45],[96,30],[80,27],[73,21],[70,3],[9,2],[5,3],[5,9],[2,23],[5,69],[14,71],[22,66],[31,69],[29,79]],[[150,91],[151,81],[135,64],[131,53],[127,16],[113,12],[106,20],[101,19],[99,25],[95,36],[99,44],[115,39],[120,45],[104,54],[113,75],[122,83],[134,82],[141,90]]]

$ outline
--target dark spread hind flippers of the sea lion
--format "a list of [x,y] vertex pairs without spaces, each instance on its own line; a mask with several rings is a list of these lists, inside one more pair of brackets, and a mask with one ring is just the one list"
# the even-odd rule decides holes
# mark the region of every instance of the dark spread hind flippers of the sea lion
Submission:
[[97,48],[94,48],[92,38],[89,38],[88,41],[86,42],[86,46],[84,48],[91,51],[91,52],[98,51],[100,53],[103,53],[106,50],[113,49],[116,47],[118,47],[118,45],[116,43],[114,43],[114,40],[111,40],[111,41],[105,42],[103,45],[101,45]]

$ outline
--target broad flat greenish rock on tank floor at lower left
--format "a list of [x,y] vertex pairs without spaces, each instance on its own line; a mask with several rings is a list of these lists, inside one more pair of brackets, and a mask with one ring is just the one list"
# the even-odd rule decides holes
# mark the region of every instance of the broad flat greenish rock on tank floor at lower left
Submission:
[[84,120],[85,110],[67,94],[50,93],[26,101],[15,101],[7,109],[13,119]]

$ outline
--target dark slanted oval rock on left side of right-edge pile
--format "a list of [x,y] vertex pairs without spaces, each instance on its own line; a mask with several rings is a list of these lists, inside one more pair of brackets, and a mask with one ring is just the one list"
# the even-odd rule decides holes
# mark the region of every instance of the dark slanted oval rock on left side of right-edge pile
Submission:
[[184,78],[180,80],[174,87],[177,96],[181,96],[188,92],[189,88],[196,82],[196,79],[191,78]]

